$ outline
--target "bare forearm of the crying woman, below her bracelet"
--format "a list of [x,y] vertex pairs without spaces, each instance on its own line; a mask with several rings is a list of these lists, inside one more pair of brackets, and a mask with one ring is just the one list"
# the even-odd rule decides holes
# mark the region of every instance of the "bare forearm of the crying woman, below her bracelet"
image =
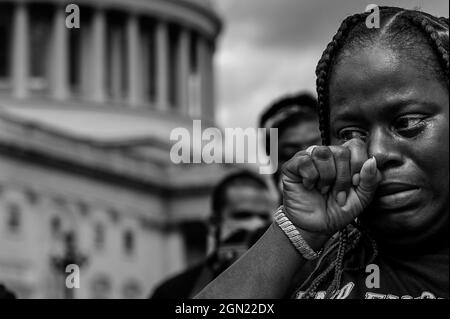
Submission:
[[[302,236],[312,244],[313,249],[320,249],[327,240],[305,233]],[[295,273],[306,262],[283,231],[272,224],[244,256],[195,298],[282,298]]]

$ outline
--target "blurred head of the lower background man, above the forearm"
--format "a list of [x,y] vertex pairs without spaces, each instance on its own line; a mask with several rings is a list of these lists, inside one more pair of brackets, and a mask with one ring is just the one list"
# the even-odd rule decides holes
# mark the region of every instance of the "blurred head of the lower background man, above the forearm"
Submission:
[[212,194],[210,225],[215,249],[239,232],[250,234],[270,223],[275,205],[267,183],[259,175],[241,170],[226,176]]

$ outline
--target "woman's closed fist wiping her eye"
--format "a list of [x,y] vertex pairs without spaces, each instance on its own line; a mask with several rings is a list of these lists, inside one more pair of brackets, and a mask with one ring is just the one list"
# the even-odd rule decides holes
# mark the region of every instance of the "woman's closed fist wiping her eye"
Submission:
[[282,169],[283,204],[292,223],[305,231],[333,235],[370,204],[381,173],[365,143],[314,146]]

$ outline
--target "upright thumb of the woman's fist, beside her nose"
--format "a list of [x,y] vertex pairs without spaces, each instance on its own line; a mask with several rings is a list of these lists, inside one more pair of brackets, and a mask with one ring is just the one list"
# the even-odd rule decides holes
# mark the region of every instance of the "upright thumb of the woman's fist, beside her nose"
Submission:
[[381,175],[377,169],[377,160],[375,157],[371,157],[364,162],[360,172],[359,185],[355,189],[364,208],[372,201],[380,180]]

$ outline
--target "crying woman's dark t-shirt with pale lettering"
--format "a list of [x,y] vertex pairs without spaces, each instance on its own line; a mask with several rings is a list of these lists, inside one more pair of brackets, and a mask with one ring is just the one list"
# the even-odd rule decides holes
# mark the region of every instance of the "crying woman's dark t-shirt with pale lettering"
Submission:
[[[364,241],[361,241],[364,242]],[[366,243],[367,244],[367,243]],[[332,295],[335,299],[436,299],[449,298],[449,249],[442,248],[417,256],[399,256],[373,251],[367,245],[360,247],[345,259],[339,290]],[[336,247],[335,247],[336,249]],[[330,254],[311,276],[313,280],[323,272],[335,258]],[[334,271],[326,276],[318,286],[314,298],[323,299],[331,284]],[[308,280],[293,295],[300,298],[308,285]]]

